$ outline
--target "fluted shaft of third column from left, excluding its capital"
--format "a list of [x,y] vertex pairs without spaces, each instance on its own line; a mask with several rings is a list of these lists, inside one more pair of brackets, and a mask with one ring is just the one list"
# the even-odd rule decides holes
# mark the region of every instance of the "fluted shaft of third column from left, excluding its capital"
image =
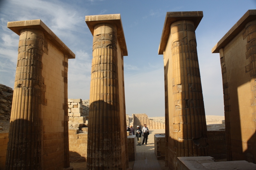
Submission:
[[193,21],[172,23],[171,50],[174,150],[168,157],[175,162],[176,157],[207,156],[209,152]]

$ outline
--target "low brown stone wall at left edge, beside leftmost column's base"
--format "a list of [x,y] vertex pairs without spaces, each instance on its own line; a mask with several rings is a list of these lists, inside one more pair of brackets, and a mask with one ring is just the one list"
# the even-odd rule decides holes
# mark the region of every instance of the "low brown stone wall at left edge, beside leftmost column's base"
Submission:
[[9,133],[0,133],[0,170],[5,168],[7,144],[9,141]]

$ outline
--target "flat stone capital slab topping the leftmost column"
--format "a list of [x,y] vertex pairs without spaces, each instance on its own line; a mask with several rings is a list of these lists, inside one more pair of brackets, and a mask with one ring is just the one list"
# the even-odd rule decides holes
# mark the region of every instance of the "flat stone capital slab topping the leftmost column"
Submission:
[[68,59],[76,58],[76,55],[43,23],[43,21],[41,21],[41,19],[12,21],[7,23],[7,27],[18,35],[20,35],[20,31],[23,29],[37,29],[43,31],[44,36],[56,44],[61,51],[68,54]]

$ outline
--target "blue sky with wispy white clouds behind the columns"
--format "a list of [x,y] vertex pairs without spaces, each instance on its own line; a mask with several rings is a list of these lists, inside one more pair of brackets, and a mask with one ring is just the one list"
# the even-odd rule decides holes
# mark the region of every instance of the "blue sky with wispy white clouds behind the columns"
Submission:
[[89,99],[92,34],[86,15],[121,14],[128,56],[124,56],[126,114],[164,116],[164,63],[158,46],[166,12],[203,11],[196,29],[206,115],[224,115],[219,54],[213,46],[255,0],[0,0],[0,83],[14,86],[19,36],[7,22],[41,19],[76,59],[68,64],[68,98]]

